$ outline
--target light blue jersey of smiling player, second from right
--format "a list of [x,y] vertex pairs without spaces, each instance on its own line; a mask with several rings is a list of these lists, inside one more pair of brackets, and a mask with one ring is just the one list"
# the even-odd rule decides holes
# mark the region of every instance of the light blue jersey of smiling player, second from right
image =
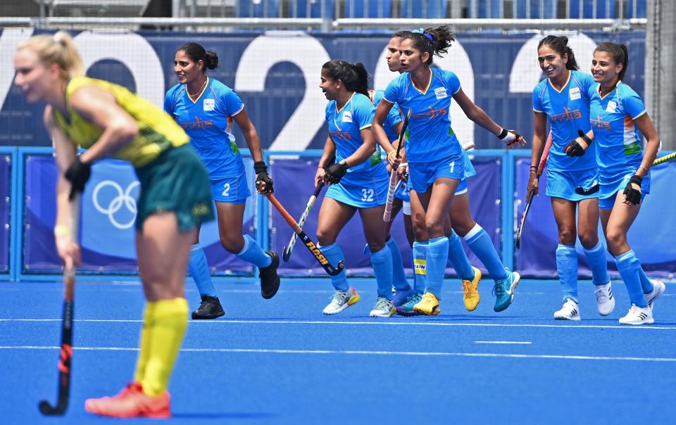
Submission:
[[578,137],[577,130],[589,131],[589,87],[593,84],[591,75],[571,70],[561,91],[552,87],[549,78],[533,89],[533,110],[546,113],[551,127],[548,170],[577,171],[596,167],[595,143],[583,156],[570,157],[564,152],[570,141]]

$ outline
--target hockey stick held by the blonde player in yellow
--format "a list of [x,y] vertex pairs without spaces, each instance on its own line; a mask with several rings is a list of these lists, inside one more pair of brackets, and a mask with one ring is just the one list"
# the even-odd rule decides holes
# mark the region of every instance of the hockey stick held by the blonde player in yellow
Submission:
[[[70,201],[70,241],[77,243],[80,224],[80,195]],[[47,400],[39,403],[40,413],[61,415],[68,409],[70,398],[70,360],[73,358],[73,302],[75,298],[75,265],[63,269],[63,317],[61,319],[61,354],[58,360],[58,400],[56,406]]]

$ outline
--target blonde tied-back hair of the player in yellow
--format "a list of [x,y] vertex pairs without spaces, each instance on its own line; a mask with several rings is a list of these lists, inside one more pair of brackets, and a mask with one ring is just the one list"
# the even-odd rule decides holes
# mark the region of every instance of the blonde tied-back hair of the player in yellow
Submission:
[[57,31],[54,35],[35,35],[19,44],[18,50],[20,49],[35,51],[45,65],[56,63],[63,80],[84,75],[80,53],[77,53],[75,42],[68,32]]

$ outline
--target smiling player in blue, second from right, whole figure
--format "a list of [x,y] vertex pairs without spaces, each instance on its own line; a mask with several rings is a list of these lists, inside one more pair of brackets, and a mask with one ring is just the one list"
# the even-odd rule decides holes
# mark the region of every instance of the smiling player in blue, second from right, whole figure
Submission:
[[591,127],[589,87],[594,85],[594,78],[577,70],[580,67],[568,46],[568,37],[544,37],[539,42],[537,54],[546,78],[533,89],[533,152],[528,192],[535,189],[537,194],[537,165],[544,150],[549,122],[551,148],[547,162],[546,194],[551,197],[558,226],[556,269],[563,290],[563,307],[554,312],[554,319],[580,320],[576,234],[592,269],[599,313],[607,316],[615,307],[615,298],[606,267],[606,247],[598,236],[596,143],[589,144],[587,141]]

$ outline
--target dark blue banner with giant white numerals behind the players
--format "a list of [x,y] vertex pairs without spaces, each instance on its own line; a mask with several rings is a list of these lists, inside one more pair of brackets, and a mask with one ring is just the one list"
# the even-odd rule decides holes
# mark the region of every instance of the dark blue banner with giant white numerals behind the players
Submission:
[[[363,63],[373,76],[376,89],[387,87],[396,75],[387,70],[384,51],[389,39],[382,33],[73,32],[73,35],[85,63],[92,64],[87,75],[123,84],[157,105],[163,104],[165,92],[177,84],[173,72],[177,46],[191,41],[215,51],[219,66],[209,70],[208,75],[237,91],[246,103],[263,148],[273,150],[323,147],[327,101],[318,81],[325,61],[333,58]],[[17,41],[28,36],[28,32],[4,30],[0,32],[0,44],[5,37]],[[645,32],[576,32],[569,36],[583,72],[589,72],[596,43],[627,44],[632,66],[625,82],[643,94]],[[528,134],[533,126],[532,89],[542,79],[536,59],[537,41],[541,37],[542,34],[527,32],[456,34],[448,55],[434,58],[434,64],[456,72],[465,94],[500,125]],[[111,51],[120,57],[113,60]],[[44,106],[26,103],[20,89],[10,87],[11,80],[0,84],[6,84],[0,87],[0,145],[51,146],[42,125]],[[455,102],[451,103],[451,115],[453,131],[462,142],[475,141],[478,148],[503,148],[501,141],[466,118]],[[234,135],[237,144],[244,148],[246,142],[237,126]]]

